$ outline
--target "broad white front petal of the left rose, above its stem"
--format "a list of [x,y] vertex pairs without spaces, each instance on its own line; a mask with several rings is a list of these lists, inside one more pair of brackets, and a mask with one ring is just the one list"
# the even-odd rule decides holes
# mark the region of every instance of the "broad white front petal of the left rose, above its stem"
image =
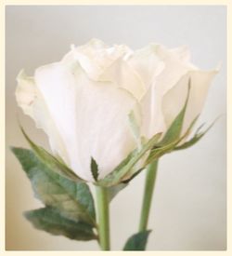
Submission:
[[90,80],[77,63],[72,69],[62,62],[39,68],[35,80],[65,142],[71,168],[82,178],[93,181],[91,156],[103,178],[135,148],[128,114],[138,110],[126,90]]

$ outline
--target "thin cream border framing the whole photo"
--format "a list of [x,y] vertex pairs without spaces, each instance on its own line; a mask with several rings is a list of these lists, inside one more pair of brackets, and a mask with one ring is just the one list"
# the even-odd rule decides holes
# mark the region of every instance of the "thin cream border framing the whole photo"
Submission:
[[[159,250],[153,250],[153,251],[55,251],[55,250],[5,250],[5,7],[6,6],[70,6],[70,5],[170,5],[170,6],[226,6],[227,8],[227,87],[226,87],[226,93],[227,93],[227,145],[226,145],[226,161],[227,161],[227,171],[226,171],[226,177],[227,177],[227,249],[226,250],[207,250],[207,251],[192,251],[192,250],[181,250],[181,251],[159,251]],[[231,54],[231,46],[232,46],[232,18],[231,18],[231,1],[172,1],[172,0],[163,0],[163,1],[152,1],[152,0],[144,0],[144,1],[128,1],[128,0],[105,0],[105,1],[94,1],[94,0],[88,0],[88,1],[77,1],[77,0],[54,0],[54,1],[33,1],[33,0],[24,0],[24,1],[1,1],[0,4],[1,9],[1,86],[0,86],[0,104],[1,104],[1,111],[0,111],[0,162],[1,162],[1,174],[2,177],[0,179],[0,188],[1,188],[1,197],[0,197],[0,226],[1,233],[0,233],[0,255],[13,255],[13,254],[19,254],[19,255],[104,255],[105,253],[111,253],[111,254],[117,254],[117,256],[122,255],[123,253],[127,253],[127,255],[135,255],[137,253],[146,253],[148,255],[225,255],[232,253],[231,250],[231,228],[232,228],[232,222],[231,222],[231,216],[232,216],[232,204],[231,204],[231,184],[229,184],[228,181],[232,181],[231,173],[229,170],[232,168],[231,166],[231,157],[229,157],[231,153],[231,144],[228,143],[228,141],[232,141],[231,138],[231,124],[232,124],[232,118],[231,118],[231,97],[232,97],[232,88],[229,88],[228,85],[231,84],[231,72],[228,72],[229,70],[232,70],[231,67],[231,61],[232,61],[232,54]],[[230,46],[230,47],[229,47]],[[231,183],[231,182],[230,182]]]

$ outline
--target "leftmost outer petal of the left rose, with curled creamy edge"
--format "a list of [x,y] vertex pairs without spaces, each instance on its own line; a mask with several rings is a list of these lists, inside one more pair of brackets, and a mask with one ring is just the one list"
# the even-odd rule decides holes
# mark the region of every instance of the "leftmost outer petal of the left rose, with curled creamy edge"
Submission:
[[37,128],[43,128],[48,136],[52,150],[69,162],[66,149],[61,140],[58,128],[46,108],[45,101],[37,89],[34,79],[21,71],[17,77],[16,100],[24,114],[30,115]]

